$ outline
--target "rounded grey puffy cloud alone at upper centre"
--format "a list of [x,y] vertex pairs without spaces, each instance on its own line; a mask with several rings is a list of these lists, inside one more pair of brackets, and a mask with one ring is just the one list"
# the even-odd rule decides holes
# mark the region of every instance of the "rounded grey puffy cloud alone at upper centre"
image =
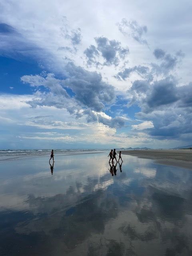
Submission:
[[[117,66],[120,60],[124,60],[129,53],[129,49],[122,48],[121,43],[116,40],[109,40],[106,37],[100,36],[96,37],[95,41],[97,46],[91,45],[84,51],[84,54],[88,59],[88,65],[100,64],[105,66]],[[96,58],[98,58],[99,55],[104,58],[104,63],[96,61]]]

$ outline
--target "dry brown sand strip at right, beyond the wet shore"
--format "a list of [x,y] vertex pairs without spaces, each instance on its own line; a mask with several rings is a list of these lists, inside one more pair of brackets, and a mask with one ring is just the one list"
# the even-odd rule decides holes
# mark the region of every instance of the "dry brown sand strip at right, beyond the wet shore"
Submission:
[[124,150],[122,154],[154,159],[158,164],[192,170],[192,150]]

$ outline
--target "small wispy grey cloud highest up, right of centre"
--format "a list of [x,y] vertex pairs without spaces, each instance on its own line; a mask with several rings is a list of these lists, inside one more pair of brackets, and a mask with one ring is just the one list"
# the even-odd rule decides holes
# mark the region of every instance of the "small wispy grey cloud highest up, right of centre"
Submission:
[[138,43],[148,45],[147,40],[142,38],[147,32],[147,26],[140,26],[136,20],[130,20],[128,22],[125,18],[121,22],[118,22],[117,26],[122,34],[130,35]]

